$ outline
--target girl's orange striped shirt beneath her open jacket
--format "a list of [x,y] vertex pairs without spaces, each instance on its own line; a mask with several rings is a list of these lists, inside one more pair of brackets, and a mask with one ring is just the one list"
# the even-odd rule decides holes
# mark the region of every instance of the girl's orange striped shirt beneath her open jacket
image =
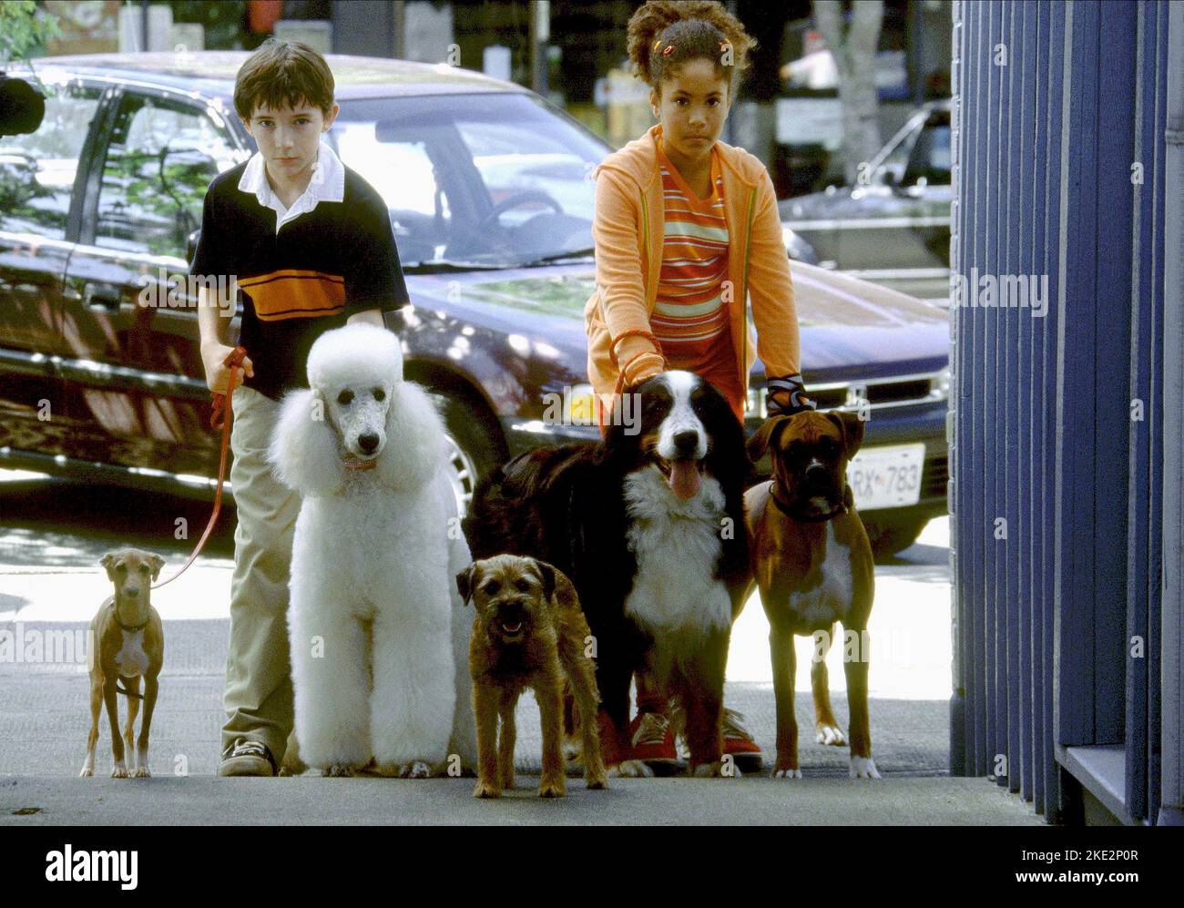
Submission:
[[694,372],[735,405],[744,398],[723,285],[728,278],[728,225],[723,176],[712,149],[712,194],[700,199],[658,146],[664,238],[658,295],[650,328],[670,368]]

